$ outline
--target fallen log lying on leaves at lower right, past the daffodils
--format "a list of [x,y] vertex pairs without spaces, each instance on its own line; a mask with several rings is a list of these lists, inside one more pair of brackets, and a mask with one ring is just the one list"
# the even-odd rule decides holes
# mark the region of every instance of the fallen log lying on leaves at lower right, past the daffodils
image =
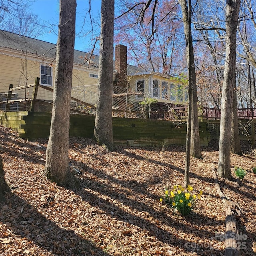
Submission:
[[217,175],[215,173],[214,166],[212,167],[212,174],[214,177],[214,182],[216,185],[217,192],[224,203],[226,210],[226,232],[225,232],[225,241],[224,245],[226,247],[226,256],[240,256],[240,246],[242,244],[240,240],[240,234],[238,229],[238,223],[236,221],[237,218],[240,218],[241,211],[239,206],[228,199],[220,189],[220,185],[218,182]]

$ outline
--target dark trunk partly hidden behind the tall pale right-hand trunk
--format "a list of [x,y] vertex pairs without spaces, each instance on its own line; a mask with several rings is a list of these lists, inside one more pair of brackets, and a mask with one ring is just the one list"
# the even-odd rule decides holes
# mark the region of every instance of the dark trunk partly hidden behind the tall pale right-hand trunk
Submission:
[[242,156],[242,150],[239,139],[238,117],[237,117],[237,98],[236,89],[233,92],[233,111],[231,123],[231,151],[234,154]]

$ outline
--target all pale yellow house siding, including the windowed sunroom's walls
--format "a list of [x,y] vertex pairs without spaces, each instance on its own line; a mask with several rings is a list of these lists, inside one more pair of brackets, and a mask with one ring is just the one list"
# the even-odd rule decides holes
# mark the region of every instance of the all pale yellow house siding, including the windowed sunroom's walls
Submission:
[[[14,87],[23,86],[26,84],[33,84],[36,77],[40,77],[40,63],[45,65],[51,63],[52,60],[46,60],[43,57],[34,58],[33,56],[25,56],[18,52],[8,52],[3,50],[0,52],[0,92],[8,92],[9,84],[13,84]],[[55,63],[52,67],[52,83],[54,83],[54,70]],[[90,77],[91,74],[98,74],[98,69],[84,68],[82,66],[75,65],[73,68],[73,80],[72,80],[72,92],[71,95],[74,98],[78,98],[84,102],[92,105],[96,104],[97,98],[97,78]],[[128,78],[130,88],[136,91],[136,84],[138,80],[144,80],[144,96],[153,98],[152,82],[153,80],[159,81],[159,97],[156,98],[158,102],[168,102],[175,104],[185,104],[184,99],[184,87],[182,88],[183,99],[171,100],[170,99],[170,84],[176,84],[175,90],[179,82],[173,78],[164,78],[158,74],[146,74],[136,75]],[[167,82],[167,96],[168,99],[162,99],[162,81]],[[51,87],[53,88],[53,87]],[[19,98],[31,98],[33,88],[27,88],[26,90],[16,90],[13,92],[17,94]],[[52,92],[38,89],[38,99],[52,100]],[[177,97],[176,97],[177,98]],[[134,97],[135,101],[141,101],[141,98]]]

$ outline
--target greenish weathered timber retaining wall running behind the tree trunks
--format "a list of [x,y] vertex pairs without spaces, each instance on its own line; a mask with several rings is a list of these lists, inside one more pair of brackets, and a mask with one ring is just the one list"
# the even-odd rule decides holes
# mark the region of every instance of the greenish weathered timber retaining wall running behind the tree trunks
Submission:
[[[70,115],[70,136],[93,137],[95,116]],[[11,127],[22,138],[46,138],[50,133],[51,113],[43,112],[0,112],[0,124]],[[135,118],[113,118],[115,144],[127,146],[185,145],[186,123],[166,120]],[[200,141],[208,146],[208,125],[200,122]]]

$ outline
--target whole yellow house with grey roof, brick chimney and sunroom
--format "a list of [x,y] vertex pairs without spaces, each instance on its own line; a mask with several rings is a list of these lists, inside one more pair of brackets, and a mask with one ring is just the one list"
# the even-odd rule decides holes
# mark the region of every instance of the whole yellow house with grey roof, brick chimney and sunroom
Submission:
[[[0,30],[0,95],[4,96],[9,84],[14,87],[34,83],[53,87],[56,45],[42,40]],[[86,103],[96,104],[99,56],[75,50],[72,96]],[[119,110],[138,110],[144,98],[156,100],[155,108],[166,104],[186,104],[186,84],[177,78],[145,71],[127,64],[127,48],[115,46],[114,106]],[[32,90],[14,94],[17,98],[31,98]],[[39,88],[38,97],[52,100],[52,93]],[[2,97],[3,98],[3,97]]]

